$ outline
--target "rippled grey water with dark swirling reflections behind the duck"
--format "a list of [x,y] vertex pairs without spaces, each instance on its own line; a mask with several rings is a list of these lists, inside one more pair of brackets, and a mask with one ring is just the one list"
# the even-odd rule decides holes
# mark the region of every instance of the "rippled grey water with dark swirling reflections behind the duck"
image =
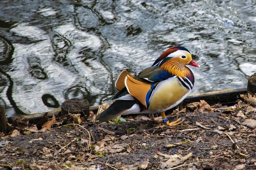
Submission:
[[253,0],[0,0],[0,104],[8,116],[115,93],[122,69],[188,48],[193,93],[245,87],[256,72]]

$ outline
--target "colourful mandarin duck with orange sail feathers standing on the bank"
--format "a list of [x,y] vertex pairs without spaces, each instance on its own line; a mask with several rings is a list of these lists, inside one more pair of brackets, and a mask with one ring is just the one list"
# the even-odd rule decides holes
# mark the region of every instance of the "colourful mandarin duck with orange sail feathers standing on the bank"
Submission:
[[194,86],[194,75],[186,65],[200,68],[189,50],[172,47],[136,75],[123,70],[115,84],[119,91],[111,99],[114,102],[96,120],[104,122],[122,114],[160,113],[169,126],[181,123],[180,119],[169,122],[165,111],[182,102]]

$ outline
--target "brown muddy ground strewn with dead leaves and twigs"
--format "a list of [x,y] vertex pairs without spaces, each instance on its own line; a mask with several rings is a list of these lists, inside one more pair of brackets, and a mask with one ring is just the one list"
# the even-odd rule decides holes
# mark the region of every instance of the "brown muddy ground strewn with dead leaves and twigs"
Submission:
[[250,100],[229,107],[192,103],[168,115],[184,119],[175,127],[158,115],[17,127],[1,136],[0,169],[256,170],[256,98]]

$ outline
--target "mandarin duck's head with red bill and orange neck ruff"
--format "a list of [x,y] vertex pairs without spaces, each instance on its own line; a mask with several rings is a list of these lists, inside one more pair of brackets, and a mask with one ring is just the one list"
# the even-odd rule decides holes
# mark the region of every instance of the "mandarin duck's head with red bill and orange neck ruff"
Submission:
[[200,66],[192,59],[190,51],[184,47],[172,47],[164,51],[152,66],[159,66],[174,75],[186,77],[190,70],[185,67],[191,65],[197,68]]

